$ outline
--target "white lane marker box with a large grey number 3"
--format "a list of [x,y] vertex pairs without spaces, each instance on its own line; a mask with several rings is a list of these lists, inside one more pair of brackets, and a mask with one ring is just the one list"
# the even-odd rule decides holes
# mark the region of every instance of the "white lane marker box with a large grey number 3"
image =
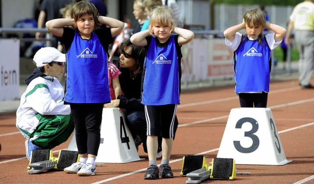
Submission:
[[284,165],[287,160],[270,108],[233,108],[220,143],[218,158],[237,164]]

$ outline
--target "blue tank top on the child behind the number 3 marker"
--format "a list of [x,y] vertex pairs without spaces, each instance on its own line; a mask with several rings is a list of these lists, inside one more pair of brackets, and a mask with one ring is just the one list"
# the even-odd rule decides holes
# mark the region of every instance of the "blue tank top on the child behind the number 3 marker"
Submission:
[[233,61],[235,93],[269,92],[271,54],[265,36],[261,44],[242,37]]

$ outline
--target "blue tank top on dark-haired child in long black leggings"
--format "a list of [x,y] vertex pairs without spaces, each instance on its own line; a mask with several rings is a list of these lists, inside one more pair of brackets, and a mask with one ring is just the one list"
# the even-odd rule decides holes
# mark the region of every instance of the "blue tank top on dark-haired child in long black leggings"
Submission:
[[110,102],[107,53],[93,32],[84,40],[75,31],[67,56],[67,85],[65,102]]

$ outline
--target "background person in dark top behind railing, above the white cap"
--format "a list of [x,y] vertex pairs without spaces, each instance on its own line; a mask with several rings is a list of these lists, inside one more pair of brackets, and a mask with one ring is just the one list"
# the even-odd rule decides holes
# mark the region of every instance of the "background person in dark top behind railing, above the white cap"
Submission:
[[[45,23],[52,19],[62,18],[60,9],[64,8],[67,4],[71,3],[72,0],[43,0],[40,5],[40,12],[37,20],[37,28],[44,28]],[[42,32],[36,32],[35,37],[42,38],[44,34]],[[53,36],[52,47],[57,48],[58,39]]]

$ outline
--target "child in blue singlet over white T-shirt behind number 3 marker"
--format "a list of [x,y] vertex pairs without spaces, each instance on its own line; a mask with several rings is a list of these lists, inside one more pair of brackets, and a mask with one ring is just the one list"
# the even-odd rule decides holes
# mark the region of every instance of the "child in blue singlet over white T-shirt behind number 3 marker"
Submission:
[[[273,31],[263,35],[264,28]],[[245,29],[245,33],[238,31]],[[271,50],[286,35],[284,27],[267,23],[260,8],[245,12],[242,23],[224,31],[226,45],[234,51],[235,93],[241,107],[266,107],[270,84]]]

